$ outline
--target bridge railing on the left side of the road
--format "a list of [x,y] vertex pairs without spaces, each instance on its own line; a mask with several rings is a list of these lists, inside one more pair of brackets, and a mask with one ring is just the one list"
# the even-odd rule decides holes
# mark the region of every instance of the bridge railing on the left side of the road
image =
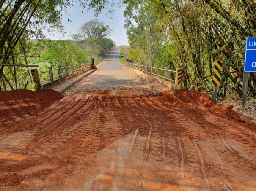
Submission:
[[58,66],[57,68],[48,67],[48,70],[46,71],[40,71],[38,72],[40,82],[50,82],[54,80],[58,80],[60,78],[63,78],[67,75],[77,73],[78,71],[85,70],[91,68],[91,63],[83,63],[83,64],[77,64],[77,65],[66,65],[66,66]]

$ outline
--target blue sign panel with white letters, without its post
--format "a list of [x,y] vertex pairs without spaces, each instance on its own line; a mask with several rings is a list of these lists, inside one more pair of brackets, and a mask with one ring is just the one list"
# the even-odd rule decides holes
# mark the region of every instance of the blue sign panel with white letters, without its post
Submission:
[[246,39],[245,72],[256,72],[256,38]]

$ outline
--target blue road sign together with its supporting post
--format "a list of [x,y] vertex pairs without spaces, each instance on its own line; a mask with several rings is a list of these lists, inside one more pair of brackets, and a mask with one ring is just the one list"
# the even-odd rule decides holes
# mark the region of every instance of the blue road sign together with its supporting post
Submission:
[[256,38],[252,37],[246,39],[245,68],[242,84],[242,108],[245,108],[247,101],[249,72],[256,72]]

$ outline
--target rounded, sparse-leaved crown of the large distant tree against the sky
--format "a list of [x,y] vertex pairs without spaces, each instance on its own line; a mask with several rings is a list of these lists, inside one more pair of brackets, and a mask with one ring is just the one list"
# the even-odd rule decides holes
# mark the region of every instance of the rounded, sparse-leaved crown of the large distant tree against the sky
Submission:
[[104,22],[99,21],[99,19],[94,19],[83,24],[78,32],[78,35],[83,40],[88,38],[106,38],[112,34],[112,29],[110,26],[105,25]]

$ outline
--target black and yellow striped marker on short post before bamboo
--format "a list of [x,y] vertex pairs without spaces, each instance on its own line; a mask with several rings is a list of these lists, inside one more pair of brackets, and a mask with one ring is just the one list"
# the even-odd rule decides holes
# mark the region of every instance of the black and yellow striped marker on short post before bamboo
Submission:
[[214,61],[214,68],[213,68],[213,76],[212,76],[212,86],[213,86],[213,94],[212,100],[216,102],[217,99],[217,86],[220,86],[221,81],[221,73],[223,61]]

